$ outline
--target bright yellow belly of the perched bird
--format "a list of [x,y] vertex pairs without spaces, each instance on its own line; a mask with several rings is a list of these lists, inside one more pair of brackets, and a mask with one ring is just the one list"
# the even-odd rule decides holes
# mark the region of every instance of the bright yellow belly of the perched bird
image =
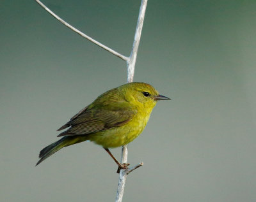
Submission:
[[88,139],[104,148],[121,147],[137,138],[145,128],[147,121],[148,119],[132,120],[124,126],[90,134]]

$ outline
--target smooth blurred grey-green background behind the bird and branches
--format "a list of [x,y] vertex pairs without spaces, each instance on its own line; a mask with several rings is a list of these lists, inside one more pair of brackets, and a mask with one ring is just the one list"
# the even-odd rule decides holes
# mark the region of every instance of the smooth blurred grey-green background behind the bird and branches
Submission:
[[[129,55],[140,1],[43,1],[77,29]],[[256,200],[256,1],[149,0],[135,82],[159,102],[129,162],[123,201]],[[93,143],[39,151],[125,62],[35,1],[0,1],[0,201],[113,201],[118,175]],[[120,148],[113,149],[120,158]]]

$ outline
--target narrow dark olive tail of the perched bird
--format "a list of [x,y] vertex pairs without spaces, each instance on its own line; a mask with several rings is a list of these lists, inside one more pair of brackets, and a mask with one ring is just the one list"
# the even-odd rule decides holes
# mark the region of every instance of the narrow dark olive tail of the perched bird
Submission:
[[40,162],[44,161],[48,157],[50,157],[55,152],[58,152],[63,147],[67,147],[69,145],[74,145],[81,141],[85,141],[86,137],[84,136],[64,136],[60,140],[48,145],[40,151],[39,158],[40,160],[36,163],[36,166],[40,164]]

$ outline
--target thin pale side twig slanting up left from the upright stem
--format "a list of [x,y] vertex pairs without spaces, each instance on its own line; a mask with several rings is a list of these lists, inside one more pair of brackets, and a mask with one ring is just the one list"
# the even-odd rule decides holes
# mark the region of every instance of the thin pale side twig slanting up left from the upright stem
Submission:
[[62,24],[66,25],[69,29],[72,29],[72,31],[76,32],[77,34],[83,36],[84,38],[86,38],[86,40],[92,41],[92,43],[95,43],[96,45],[98,45],[100,48],[103,48],[104,50],[107,50],[108,52],[110,52],[113,55],[116,55],[117,57],[119,57],[120,59],[124,60],[124,61],[128,61],[128,57],[125,57],[122,54],[119,54],[118,52],[116,52],[115,50],[106,47],[105,45],[103,45],[102,43],[99,43],[99,41],[93,40],[93,38],[91,38],[90,36],[87,36],[86,34],[84,34],[83,32],[79,31],[78,29],[76,29],[75,27],[73,27],[72,25],[68,24],[67,22],[65,22],[65,20],[61,19],[60,17],[58,17],[58,15],[56,15],[55,13],[53,13],[49,8],[47,8],[47,6],[45,6],[41,1],[39,0],[35,0],[38,4],[40,4],[46,11],[48,11],[54,18],[56,18],[57,20],[59,20]]

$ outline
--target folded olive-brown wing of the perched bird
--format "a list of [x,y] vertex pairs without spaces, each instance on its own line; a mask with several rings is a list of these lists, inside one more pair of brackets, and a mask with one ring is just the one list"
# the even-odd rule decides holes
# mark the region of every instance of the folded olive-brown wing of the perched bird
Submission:
[[136,109],[126,101],[109,103],[108,105],[96,105],[90,109],[84,108],[72,117],[67,124],[60,127],[59,130],[71,126],[58,136],[91,134],[112,127],[123,126],[135,114]]

